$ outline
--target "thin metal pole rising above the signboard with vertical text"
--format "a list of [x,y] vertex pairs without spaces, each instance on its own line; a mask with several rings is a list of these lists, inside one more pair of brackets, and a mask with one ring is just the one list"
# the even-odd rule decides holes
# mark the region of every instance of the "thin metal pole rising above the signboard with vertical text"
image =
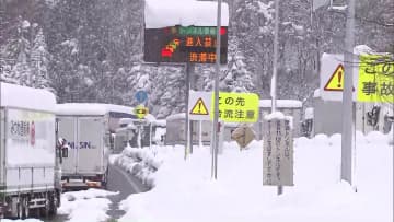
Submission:
[[[277,96],[277,67],[278,67],[278,32],[279,32],[279,0],[275,1],[275,30],[274,30],[274,61],[273,61],[273,79],[271,79],[271,113],[276,112]],[[283,192],[282,186],[278,186],[278,195]]]

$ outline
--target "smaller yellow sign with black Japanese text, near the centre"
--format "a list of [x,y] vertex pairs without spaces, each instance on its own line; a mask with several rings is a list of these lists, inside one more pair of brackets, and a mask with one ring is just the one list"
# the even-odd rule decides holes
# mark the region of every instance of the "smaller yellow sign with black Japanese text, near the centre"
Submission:
[[[212,94],[213,96],[213,94]],[[213,107],[213,97],[211,108]],[[219,119],[228,122],[256,122],[259,98],[255,93],[219,93]],[[213,119],[213,110],[211,110]]]

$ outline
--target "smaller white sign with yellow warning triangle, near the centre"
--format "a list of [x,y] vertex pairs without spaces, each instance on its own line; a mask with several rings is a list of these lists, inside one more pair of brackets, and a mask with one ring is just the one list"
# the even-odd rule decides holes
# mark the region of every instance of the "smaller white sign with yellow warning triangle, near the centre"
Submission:
[[211,92],[190,91],[188,114],[190,120],[210,120]]

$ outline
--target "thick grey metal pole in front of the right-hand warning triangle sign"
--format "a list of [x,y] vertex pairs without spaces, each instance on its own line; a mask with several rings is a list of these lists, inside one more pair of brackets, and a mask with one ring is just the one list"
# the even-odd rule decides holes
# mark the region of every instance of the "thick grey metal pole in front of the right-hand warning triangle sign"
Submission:
[[352,102],[352,50],[355,42],[355,0],[349,0],[345,39],[345,82],[343,93],[343,133],[340,178],[352,185],[352,154],[355,153],[355,121]]

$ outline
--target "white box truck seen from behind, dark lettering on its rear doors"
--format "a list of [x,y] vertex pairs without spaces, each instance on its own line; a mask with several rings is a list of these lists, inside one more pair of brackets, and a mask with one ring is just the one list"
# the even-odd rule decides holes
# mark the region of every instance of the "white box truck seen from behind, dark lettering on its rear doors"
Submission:
[[137,118],[134,108],[111,104],[58,104],[59,137],[68,152],[62,157],[62,188],[66,190],[105,187],[108,155],[120,118]]

